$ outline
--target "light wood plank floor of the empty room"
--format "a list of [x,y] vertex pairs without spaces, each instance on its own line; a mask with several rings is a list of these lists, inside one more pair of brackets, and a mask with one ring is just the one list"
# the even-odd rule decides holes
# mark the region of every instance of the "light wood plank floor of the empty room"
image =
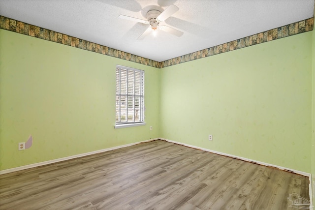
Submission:
[[5,210],[288,210],[309,179],[157,140],[0,175]]

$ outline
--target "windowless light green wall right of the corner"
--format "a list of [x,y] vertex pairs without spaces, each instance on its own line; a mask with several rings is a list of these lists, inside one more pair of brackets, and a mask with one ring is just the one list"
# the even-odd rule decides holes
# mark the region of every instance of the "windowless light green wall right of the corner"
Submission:
[[310,173],[312,36],[162,68],[161,137]]

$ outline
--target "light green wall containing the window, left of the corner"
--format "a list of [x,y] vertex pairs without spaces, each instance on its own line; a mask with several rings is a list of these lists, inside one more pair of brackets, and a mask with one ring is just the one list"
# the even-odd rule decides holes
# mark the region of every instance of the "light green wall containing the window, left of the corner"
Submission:
[[[145,126],[114,129],[116,64],[145,70]],[[0,30],[0,170],[159,137],[159,75]],[[18,151],[30,134],[32,147]]]

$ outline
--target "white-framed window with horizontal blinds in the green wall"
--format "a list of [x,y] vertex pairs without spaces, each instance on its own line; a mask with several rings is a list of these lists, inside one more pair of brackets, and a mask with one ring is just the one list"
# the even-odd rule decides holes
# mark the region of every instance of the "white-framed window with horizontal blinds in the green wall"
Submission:
[[144,71],[116,66],[115,128],[143,125]]

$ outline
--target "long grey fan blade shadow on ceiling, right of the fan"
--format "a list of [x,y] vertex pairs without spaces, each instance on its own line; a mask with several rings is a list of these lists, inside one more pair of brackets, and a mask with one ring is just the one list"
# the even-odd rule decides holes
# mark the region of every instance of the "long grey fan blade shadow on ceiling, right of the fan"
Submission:
[[199,26],[198,24],[190,23],[188,21],[175,17],[169,17],[165,21],[165,23],[171,26],[176,26],[181,30],[187,31],[204,39],[209,39],[210,38],[209,34],[216,33],[215,30],[211,30],[209,28]]

